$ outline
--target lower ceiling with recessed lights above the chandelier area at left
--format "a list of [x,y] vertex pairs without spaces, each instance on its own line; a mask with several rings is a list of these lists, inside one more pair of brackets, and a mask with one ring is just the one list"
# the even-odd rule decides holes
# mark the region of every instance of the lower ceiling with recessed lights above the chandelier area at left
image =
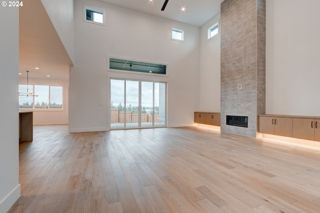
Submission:
[[[72,64],[41,0],[19,8],[19,73],[26,77],[68,79]],[[39,67],[39,69],[35,69]]]

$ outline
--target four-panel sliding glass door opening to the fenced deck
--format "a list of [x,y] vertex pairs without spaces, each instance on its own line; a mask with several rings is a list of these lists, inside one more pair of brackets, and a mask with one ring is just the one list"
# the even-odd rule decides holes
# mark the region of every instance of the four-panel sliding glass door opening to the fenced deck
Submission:
[[166,126],[166,83],[110,79],[110,128]]

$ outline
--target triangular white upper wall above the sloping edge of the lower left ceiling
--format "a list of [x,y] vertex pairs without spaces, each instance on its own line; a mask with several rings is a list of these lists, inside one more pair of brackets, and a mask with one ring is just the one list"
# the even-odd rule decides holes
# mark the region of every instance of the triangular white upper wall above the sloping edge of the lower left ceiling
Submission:
[[74,57],[73,0],[41,0],[70,59]]

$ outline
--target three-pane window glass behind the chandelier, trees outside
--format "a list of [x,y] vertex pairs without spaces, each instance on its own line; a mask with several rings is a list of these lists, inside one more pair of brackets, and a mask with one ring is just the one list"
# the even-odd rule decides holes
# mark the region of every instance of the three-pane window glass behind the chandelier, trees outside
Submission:
[[31,109],[62,109],[62,86],[50,86],[50,85],[28,85],[29,93],[38,94],[38,96],[26,96],[26,85],[19,85],[19,108],[31,108]]

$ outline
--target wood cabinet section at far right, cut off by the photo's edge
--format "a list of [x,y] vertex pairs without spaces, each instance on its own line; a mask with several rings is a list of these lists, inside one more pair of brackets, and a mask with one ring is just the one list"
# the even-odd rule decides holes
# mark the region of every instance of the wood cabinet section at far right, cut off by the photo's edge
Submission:
[[301,138],[301,139],[320,141],[319,121],[320,121],[319,119],[312,119],[312,118],[293,118],[292,119],[292,131],[293,131],[292,136],[296,138]]

